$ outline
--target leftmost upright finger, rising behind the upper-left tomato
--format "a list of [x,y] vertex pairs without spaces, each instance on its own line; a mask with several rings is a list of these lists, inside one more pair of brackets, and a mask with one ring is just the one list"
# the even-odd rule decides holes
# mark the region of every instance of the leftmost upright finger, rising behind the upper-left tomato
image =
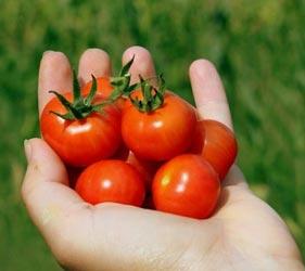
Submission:
[[72,68],[62,52],[47,51],[41,59],[38,78],[39,115],[53,98],[53,94],[49,93],[50,90],[61,93],[72,91]]

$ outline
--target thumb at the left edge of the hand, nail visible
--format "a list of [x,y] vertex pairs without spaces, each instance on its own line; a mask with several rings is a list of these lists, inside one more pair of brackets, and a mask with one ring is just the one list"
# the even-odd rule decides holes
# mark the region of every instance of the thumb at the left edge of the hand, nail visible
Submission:
[[58,234],[61,221],[84,202],[68,188],[64,165],[41,139],[25,143],[28,167],[22,185],[22,197],[35,224],[48,240]]

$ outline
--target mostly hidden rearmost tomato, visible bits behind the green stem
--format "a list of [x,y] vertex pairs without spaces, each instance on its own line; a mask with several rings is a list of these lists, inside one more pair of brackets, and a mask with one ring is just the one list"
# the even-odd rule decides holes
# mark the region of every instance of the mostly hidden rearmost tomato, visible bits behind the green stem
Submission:
[[[88,95],[92,87],[92,81],[87,82],[81,88],[81,93],[84,95]],[[113,91],[113,86],[111,85],[109,77],[99,77],[97,78],[97,92],[104,96],[105,99],[109,98]],[[125,99],[119,98],[115,101],[115,104],[119,109],[123,109],[125,106]]]

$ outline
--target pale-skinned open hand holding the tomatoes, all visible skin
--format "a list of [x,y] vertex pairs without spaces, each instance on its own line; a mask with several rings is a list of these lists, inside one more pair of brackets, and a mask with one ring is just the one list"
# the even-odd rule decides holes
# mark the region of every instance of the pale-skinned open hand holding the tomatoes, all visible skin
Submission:
[[[131,78],[155,75],[151,54],[131,47]],[[194,61],[190,81],[201,118],[232,129],[220,78],[206,60]],[[111,75],[109,55],[85,51],[80,85]],[[45,53],[39,69],[39,113],[52,98],[48,90],[71,90],[72,69],[63,53]],[[28,160],[22,196],[30,218],[59,263],[67,270],[305,270],[300,250],[278,214],[249,189],[238,166],[223,183],[216,212],[190,219],[119,204],[91,206],[67,186],[65,166],[41,139],[25,142]]]

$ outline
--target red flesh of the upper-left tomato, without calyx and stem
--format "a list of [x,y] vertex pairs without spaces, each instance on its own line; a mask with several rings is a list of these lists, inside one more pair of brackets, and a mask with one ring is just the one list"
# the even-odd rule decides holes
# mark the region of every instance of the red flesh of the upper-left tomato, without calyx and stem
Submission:
[[[65,98],[71,101],[72,94],[65,94]],[[97,95],[93,104],[101,101]],[[91,113],[79,120],[65,120],[52,111],[66,113],[60,101],[52,99],[40,118],[41,133],[67,165],[84,167],[111,157],[122,143],[120,112],[115,105],[106,105],[103,113]]]

